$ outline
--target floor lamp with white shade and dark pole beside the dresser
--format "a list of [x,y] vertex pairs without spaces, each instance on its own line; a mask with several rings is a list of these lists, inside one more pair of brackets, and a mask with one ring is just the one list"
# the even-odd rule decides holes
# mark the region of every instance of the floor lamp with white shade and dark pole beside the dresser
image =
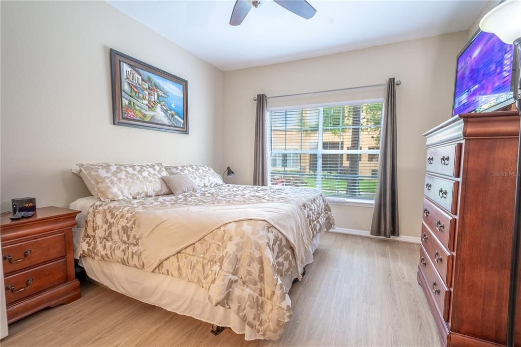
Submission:
[[[498,6],[494,7],[479,22],[479,28],[483,31],[492,32],[505,43],[514,44],[514,100],[519,115],[521,115],[521,1],[506,0]],[[517,150],[517,181],[516,181],[516,197],[514,207],[514,230],[512,235],[512,262],[510,276],[510,292],[508,295],[508,313],[507,313],[507,332],[506,345],[514,346],[515,330],[516,330],[516,301],[518,291],[517,288],[519,276],[519,243],[521,243],[521,129],[519,130],[519,147]],[[521,327],[517,327],[521,329]]]

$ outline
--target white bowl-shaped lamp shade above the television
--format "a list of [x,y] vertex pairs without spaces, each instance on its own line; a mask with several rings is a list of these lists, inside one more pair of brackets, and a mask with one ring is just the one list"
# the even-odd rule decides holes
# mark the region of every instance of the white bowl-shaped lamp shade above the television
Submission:
[[479,28],[492,32],[504,43],[514,43],[521,38],[521,1],[506,0],[481,18]]

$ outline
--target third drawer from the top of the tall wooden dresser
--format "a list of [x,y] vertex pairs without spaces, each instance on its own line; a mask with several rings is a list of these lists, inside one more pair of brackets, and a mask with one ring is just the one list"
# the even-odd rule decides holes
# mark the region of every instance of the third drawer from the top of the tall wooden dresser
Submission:
[[436,235],[438,240],[448,249],[454,251],[454,228],[456,218],[445,213],[429,199],[424,198],[423,220],[429,229]]

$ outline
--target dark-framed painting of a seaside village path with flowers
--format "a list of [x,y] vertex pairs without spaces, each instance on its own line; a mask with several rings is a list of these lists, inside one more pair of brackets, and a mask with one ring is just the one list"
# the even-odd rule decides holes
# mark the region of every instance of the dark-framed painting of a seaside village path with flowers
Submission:
[[110,49],[114,125],[188,134],[188,82]]

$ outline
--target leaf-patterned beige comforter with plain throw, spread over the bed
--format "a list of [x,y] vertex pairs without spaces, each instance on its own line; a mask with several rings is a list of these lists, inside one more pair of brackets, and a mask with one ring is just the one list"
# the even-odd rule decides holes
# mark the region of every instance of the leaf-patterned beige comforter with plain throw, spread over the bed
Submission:
[[[144,199],[89,197],[71,208],[82,210],[77,255],[196,284],[210,305],[253,329],[249,336],[269,340],[278,339],[290,320],[291,281],[313,261],[317,236],[334,224],[319,191],[288,187],[223,184]],[[276,213],[264,213],[270,208]],[[215,225],[208,221],[214,219]],[[208,232],[199,236],[200,226]]]

